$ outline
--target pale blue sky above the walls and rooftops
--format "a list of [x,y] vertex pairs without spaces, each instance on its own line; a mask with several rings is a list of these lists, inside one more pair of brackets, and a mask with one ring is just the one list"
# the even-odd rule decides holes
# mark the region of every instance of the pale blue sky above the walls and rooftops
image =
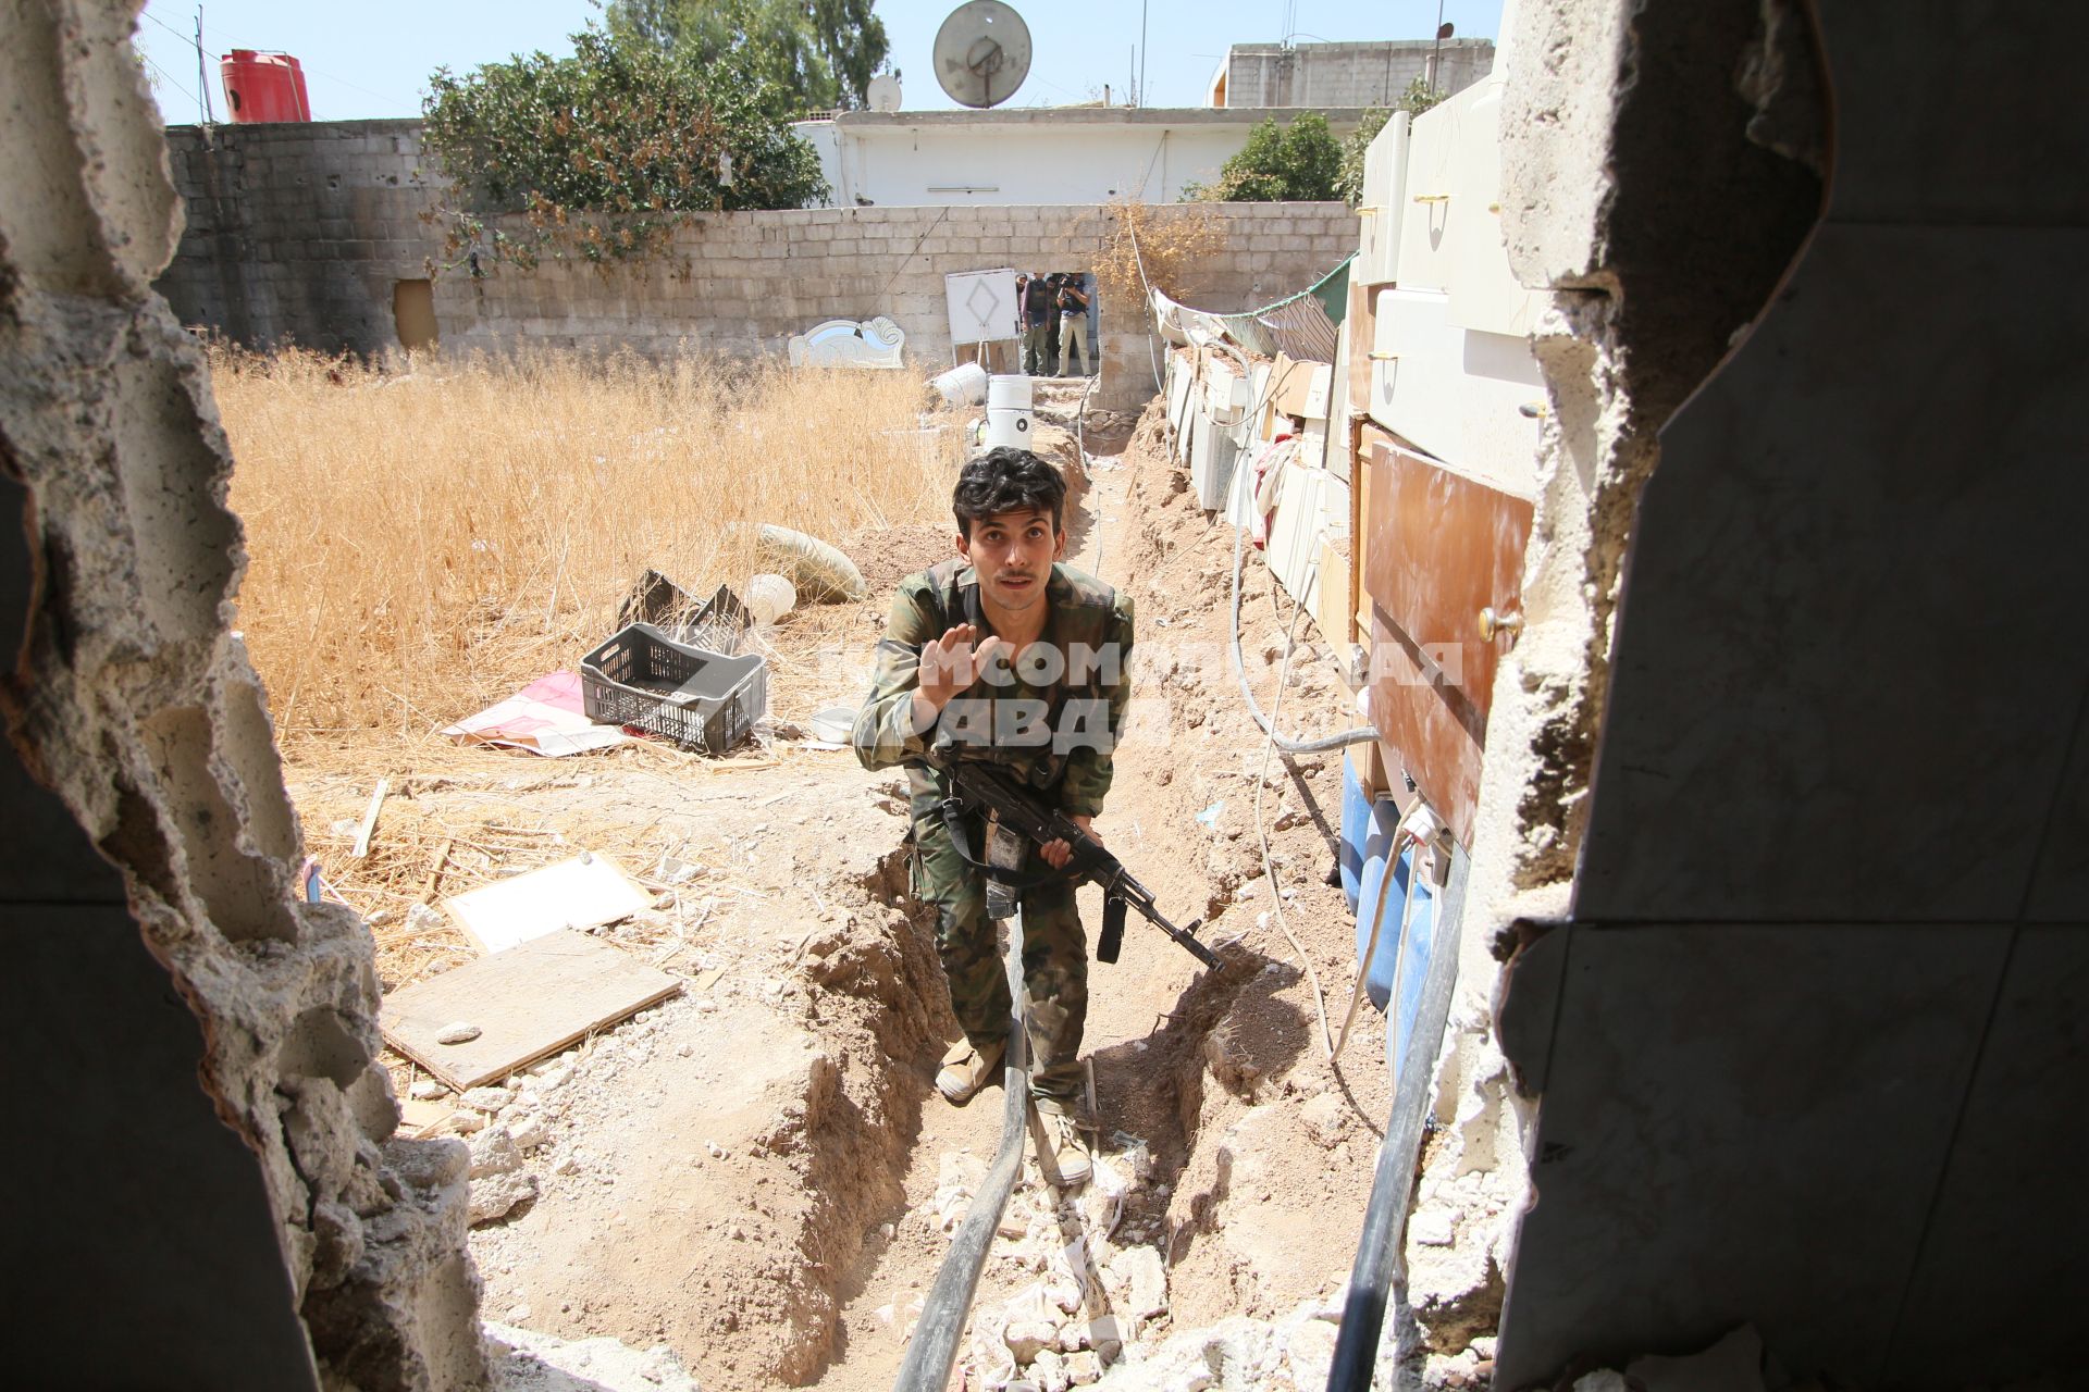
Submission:
[[[877,0],[909,111],[953,102],[930,73],[930,46],[959,0]],[[1124,100],[1136,65],[1139,0],[1013,0],[1030,25],[1036,58],[1015,106],[1095,100],[1103,83]],[[1266,44],[1291,29],[1297,40],[1387,40],[1435,33],[1437,0],[1147,0],[1147,106],[1201,106],[1228,44]],[[420,115],[437,67],[468,71],[516,52],[570,52],[566,35],[597,10],[587,0],[508,0],[499,6],[449,0],[205,0],[203,46],[280,48],[297,54],[320,121]],[[1496,38],[1502,0],[1443,0],[1460,38]],[[150,0],[138,46],[169,121],[196,119],[194,0]],[[226,117],[217,63],[209,61],[211,102]]]

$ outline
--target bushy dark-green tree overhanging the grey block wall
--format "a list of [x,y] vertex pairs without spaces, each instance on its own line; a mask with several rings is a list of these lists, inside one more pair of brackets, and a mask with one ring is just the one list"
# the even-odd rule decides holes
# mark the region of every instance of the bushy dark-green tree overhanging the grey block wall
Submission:
[[[819,154],[775,115],[740,50],[700,61],[589,27],[574,54],[437,69],[422,106],[455,207],[453,259],[533,265],[658,250],[685,213],[798,209],[827,194]],[[516,215],[516,217],[501,217]]]

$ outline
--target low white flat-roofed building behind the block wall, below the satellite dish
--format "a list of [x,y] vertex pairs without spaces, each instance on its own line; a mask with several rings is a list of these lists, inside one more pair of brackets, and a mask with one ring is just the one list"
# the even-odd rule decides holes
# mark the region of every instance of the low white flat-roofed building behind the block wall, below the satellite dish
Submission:
[[[1258,121],[1299,111],[1017,106],[846,111],[792,129],[819,150],[834,207],[1174,202],[1218,177]],[[1335,136],[1362,111],[1322,111]]]

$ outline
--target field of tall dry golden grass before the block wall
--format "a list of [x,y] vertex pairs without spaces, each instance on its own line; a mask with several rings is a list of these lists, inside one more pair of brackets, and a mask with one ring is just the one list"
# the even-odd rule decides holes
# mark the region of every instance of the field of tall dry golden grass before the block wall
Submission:
[[422,743],[572,668],[648,566],[744,584],[735,524],[934,518],[957,449],[919,434],[902,371],[219,353],[213,382],[251,555],[238,626],[292,758]]

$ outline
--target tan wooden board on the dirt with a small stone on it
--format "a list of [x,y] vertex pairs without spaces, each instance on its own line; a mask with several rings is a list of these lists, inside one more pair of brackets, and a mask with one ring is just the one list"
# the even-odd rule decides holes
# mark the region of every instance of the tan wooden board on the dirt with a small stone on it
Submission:
[[[384,998],[384,1041],[457,1091],[503,1079],[574,1039],[666,1000],[681,981],[560,929]],[[466,1043],[437,1043],[476,1025]]]

